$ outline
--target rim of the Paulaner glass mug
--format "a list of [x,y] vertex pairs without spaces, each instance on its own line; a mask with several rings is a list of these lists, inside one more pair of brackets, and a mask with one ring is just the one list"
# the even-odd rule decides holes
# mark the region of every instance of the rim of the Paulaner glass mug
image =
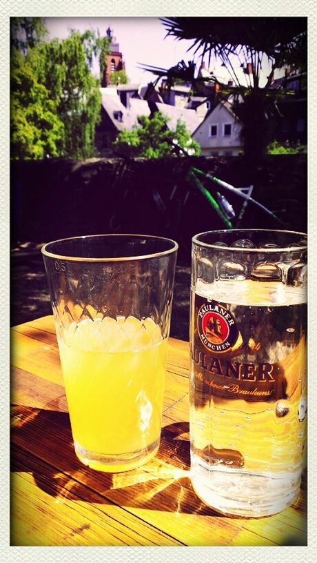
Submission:
[[198,246],[203,246],[204,248],[214,248],[215,250],[222,250],[225,252],[229,250],[230,252],[244,252],[244,253],[281,253],[281,252],[294,252],[303,251],[307,249],[307,244],[300,246],[287,246],[279,247],[273,246],[271,248],[260,246],[258,248],[246,248],[243,246],[219,246],[217,244],[212,244],[209,242],[203,242],[198,240],[198,237],[207,235],[208,233],[213,233],[214,235],[223,235],[223,233],[286,233],[287,235],[300,235],[307,238],[307,233],[300,233],[297,230],[283,230],[283,229],[220,229],[220,230],[205,230],[203,233],[197,233],[192,237],[192,243]]

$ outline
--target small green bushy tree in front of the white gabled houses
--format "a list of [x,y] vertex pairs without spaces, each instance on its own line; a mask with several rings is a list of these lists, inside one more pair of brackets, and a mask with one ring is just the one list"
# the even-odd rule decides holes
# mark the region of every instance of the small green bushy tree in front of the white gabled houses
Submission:
[[201,147],[192,139],[185,124],[178,120],[175,130],[167,128],[169,121],[161,112],[154,113],[152,119],[145,115],[138,117],[139,126],[131,131],[119,133],[114,148],[125,157],[158,159],[170,156],[198,155]]

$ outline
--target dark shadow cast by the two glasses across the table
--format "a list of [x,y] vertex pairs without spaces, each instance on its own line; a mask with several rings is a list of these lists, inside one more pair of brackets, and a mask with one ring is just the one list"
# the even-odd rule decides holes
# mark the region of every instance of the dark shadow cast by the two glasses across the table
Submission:
[[[52,404],[47,406],[52,408]],[[172,513],[219,515],[201,502],[189,478],[188,422],[165,426],[154,460],[124,473],[83,466],[74,453],[68,413],[12,407],[11,466],[32,473],[45,493],[63,499]]]

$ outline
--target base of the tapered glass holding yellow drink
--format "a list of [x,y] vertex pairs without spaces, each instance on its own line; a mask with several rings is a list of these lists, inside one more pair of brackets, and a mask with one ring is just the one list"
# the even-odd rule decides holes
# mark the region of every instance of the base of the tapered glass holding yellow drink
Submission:
[[156,442],[150,444],[150,446],[146,446],[141,450],[127,453],[106,454],[88,451],[74,440],[76,456],[81,463],[88,465],[88,467],[96,471],[108,471],[110,473],[129,471],[130,469],[147,463],[152,460],[152,457],[154,457],[159,449],[159,445],[160,440],[158,439]]

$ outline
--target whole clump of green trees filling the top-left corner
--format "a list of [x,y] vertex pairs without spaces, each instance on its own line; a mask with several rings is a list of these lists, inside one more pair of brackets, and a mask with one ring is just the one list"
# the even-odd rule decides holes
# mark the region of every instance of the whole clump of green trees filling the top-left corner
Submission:
[[93,156],[101,94],[90,68],[94,56],[105,61],[109,40],[72,30],[61,41],[28,41],[26,54],[13,40],[12,158]]

